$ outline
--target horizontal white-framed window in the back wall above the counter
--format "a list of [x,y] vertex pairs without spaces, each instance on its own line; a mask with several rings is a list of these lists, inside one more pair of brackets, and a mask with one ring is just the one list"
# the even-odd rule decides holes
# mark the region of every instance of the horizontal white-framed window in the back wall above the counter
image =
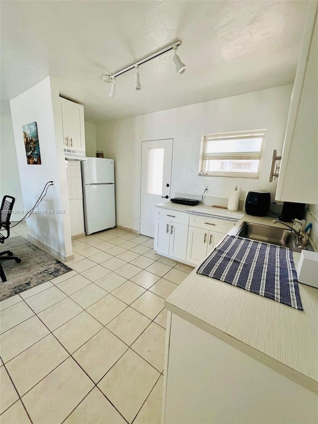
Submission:
[[202,136],[200,175],[258,178],[266,130]]

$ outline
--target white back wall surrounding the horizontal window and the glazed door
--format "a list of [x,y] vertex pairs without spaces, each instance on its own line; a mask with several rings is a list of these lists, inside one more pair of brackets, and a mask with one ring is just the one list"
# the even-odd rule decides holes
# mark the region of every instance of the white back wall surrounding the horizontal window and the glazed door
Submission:
[[[96,125],[97,149],[115,160],[117,224],[139,230],[142,140],[173,138],[171,196],[228,197],[238,185],[241,199],[249,190],[267,189],[274,200],[277,182],[268,182],[273,150],[282,152],[292,85],[197,103]],[[115,100],[116,101],[116,100]],[[267,129],[258,179],[199,176],[202,134]]]

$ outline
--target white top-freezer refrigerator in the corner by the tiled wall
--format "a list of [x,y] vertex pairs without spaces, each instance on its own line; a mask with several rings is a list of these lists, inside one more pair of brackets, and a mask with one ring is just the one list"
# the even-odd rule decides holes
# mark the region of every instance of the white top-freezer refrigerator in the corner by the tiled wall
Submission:
[[89,235],[115,227],[114,161],[87,158],[81,167],[85,233]]

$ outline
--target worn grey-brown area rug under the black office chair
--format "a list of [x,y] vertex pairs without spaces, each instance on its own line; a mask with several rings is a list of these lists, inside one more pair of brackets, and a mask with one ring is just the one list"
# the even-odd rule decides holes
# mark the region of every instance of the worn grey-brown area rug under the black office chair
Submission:
[[0,249],[2,252],[10,250],[21,259],[20,263],[15,260],[1,260],[7,281],[3,283],[0,280],[0,301],[72,271],[67,265],[20,236],[10,237],[0,245]]

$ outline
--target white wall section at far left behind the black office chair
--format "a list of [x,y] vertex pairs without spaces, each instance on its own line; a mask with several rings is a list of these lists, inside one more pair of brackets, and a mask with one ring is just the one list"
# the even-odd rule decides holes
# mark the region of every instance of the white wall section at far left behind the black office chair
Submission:
[[16,150],[11,116],[0,115],[0,201],[5,194],[15,197],[11,221],[19,221],[24,213],[20,175],[16,159]]

